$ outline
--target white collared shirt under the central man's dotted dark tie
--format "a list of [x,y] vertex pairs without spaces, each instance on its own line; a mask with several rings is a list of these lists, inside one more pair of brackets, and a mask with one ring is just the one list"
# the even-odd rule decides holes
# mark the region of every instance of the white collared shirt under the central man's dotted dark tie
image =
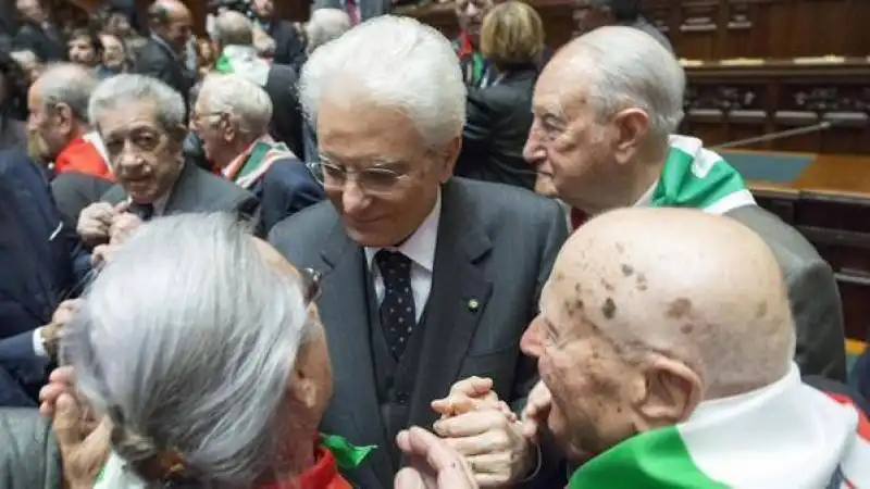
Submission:
[[[435,244],[438,240],[438,222],[442,216],[442,192],[435,200],[428,216],[420,227],[398,248],[387,248],[389,251],[398,251],[411,260],[411,290],[414,296],[414,312],[417,322],[423,315],[423,310],[428,301],[428,293],[432,290],[432,271],[435,264]],[[384,278],[381,269],[374,261],[374,255],[381,248],[365,248],[365,263],[374,280],[374,291],[377,297],[377,305],[384,300]]]

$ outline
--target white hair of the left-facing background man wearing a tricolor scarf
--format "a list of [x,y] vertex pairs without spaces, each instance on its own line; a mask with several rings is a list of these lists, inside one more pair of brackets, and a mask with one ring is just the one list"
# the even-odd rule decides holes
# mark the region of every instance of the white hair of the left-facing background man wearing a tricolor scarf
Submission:
[[202,82],[199,100],[209,112],[227,114],[239,131],[260,137],[272,121],[272,100],[258,85],[243,75],[210,74]]

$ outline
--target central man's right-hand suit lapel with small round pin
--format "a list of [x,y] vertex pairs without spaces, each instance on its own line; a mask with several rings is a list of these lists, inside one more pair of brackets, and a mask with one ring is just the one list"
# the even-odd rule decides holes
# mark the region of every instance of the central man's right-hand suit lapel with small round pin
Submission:
[[442,193],[432,291],[411,399],[411,425],[428,427],[435,419],[430,404],[446,396],[456,381],[493,291],[484,269],[492,242],[481,231],[474,206],[459,195],[458,185],[448,181]]

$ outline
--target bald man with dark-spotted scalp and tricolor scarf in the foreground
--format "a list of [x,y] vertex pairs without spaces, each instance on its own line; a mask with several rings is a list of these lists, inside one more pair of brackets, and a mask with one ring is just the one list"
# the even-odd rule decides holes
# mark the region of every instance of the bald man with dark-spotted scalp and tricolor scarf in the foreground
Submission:
[[562,247],[522,338],[543,383],[523,430],[583,463],[571,489],[865,487],[870,424],[801,381],[793,322],[751,229],[695,210],[606,213]]

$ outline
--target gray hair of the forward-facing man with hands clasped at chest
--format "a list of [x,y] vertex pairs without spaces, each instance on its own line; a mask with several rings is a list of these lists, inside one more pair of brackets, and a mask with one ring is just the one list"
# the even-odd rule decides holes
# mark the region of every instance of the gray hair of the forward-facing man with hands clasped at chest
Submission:
[[101,82],[90,96],[88,118],[99,127],[100,115],[130,102],[150,102],[166,130],[184,127],[186,109],[182,95],[163,82],[145,75],[121,74]]

